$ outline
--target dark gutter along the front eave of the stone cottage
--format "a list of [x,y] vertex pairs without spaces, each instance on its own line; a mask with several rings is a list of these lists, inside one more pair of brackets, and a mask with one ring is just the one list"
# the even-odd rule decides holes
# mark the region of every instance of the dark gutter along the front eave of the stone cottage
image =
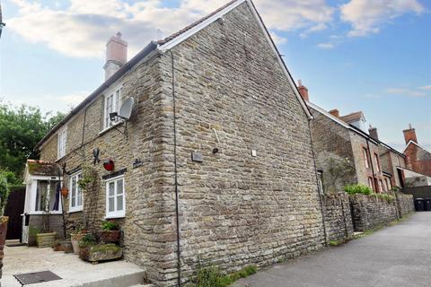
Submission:
[[51,135],[54,135],[61,126],[64,126],[72,117],[77,115],[81,109],[84,109],[84,107],[92,102],[92,100],[95,100],[102,91],[105,91],[110,87],[112,83],[115,83],[117,80],[119,80],[120,77],[122,77],[124,74],[126,74],[134,65],[139,63],[143,58],[147,57],[151,52],[153,52],[157,48],[157,43],[152,41],[148,45],[145,46],[139,53],[136,54],[135,57],[133,57],[128,63],[123,65],[117,73],[113,74],[108,80],[106,80],[104,83],[101,84],[99,88],[96,89],[96,91],[93,91],[85,100],[83,100],[75,109],[72,109],[72,111],[66,115],[56,126],[54,126],[47,135],[45,135],[39,143],[36,144],[34,147],[34,150],[38,150],[40,146],[45,143],[48,138]]

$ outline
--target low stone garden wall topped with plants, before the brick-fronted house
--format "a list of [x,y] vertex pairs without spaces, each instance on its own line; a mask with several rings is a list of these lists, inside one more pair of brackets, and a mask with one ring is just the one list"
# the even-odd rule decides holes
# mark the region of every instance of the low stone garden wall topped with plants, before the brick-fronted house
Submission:
[[375,227],[399,219],[395,199],[388,201],[376,196],[350,196],[355,231],[372,230]]

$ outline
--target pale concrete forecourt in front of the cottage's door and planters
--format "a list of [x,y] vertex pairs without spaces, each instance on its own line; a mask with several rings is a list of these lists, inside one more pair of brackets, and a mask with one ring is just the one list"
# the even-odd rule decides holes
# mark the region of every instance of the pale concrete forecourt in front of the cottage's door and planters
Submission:
[[[31,287],[126,287],[142,283],[145,271],[126,261],[92,265],[77,255],[51,248],[4,248],[2,287],[21,287],[13,274],[51,271],[62,280],[36,283]],[[27,285],[26,285],[27,286]]]

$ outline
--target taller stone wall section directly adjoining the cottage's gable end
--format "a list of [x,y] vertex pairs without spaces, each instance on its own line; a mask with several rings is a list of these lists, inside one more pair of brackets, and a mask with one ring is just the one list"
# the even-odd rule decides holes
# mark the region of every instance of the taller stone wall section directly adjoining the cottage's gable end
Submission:
[[328,242],[353,238],[350,202],[346,193],[324,195],[323,210]]

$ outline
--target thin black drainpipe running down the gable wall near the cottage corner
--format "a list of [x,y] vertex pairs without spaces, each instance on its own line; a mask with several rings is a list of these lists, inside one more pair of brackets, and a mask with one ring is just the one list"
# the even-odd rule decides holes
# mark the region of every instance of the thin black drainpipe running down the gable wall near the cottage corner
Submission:
[[174,165],[174,177],[175,177],[175,217],[177,223],[177,272],[178,272],[178,286],[181,286],[181,251],[180,251],[180,207],[179,207],[179,193],[178,193],[178,170],[177,170],[177,112],[175,104],[175,64],[173,60],[173,53],[171,53],[172,59],[172,106],[173,106],[173,165]]

